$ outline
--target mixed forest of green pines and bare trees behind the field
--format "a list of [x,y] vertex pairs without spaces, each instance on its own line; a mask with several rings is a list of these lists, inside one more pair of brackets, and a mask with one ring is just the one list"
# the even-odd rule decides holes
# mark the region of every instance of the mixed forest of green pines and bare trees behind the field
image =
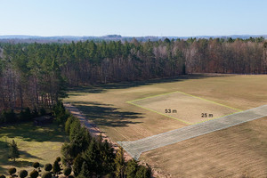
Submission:
[[0,44],[0,111],[51,108],[69,86],[191,73],[266,74],[267,42],[189,38]]

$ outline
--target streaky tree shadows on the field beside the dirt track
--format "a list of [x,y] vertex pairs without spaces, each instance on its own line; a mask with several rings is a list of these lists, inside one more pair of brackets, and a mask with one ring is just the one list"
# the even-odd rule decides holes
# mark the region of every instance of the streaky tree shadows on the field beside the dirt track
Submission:
[[142,113],[121,111],[118,108],[112,107],[110,104],[90,101],[76,101],[71,102],[71,104],[83,111],[86,117],[92,119],[93,123],[98,126],[121,127],[142,123],[134,121],[136,118],[142,118]]

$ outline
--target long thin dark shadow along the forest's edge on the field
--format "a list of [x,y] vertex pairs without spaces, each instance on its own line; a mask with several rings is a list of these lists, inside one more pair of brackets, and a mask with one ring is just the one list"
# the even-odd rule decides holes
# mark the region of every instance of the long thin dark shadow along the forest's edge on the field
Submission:
[[101,85],[91,85],[91,86],[78,86],[69,88],[69,95],[83,95],[83,93],[105,93],[106,90],[109,89],[126,89],[136,86],[142,85],[153,85],[153,84],[161,84],[161,83],[172,83],[179,82],[188,79],[203,79],[207,77],[231,77],[229,75],[223,74],[192,74],[186,76],[178,76],[178,77],[166,77],[166,78],[156,78],[145,81],[134,81],[134,82],[120,82],[120,83],[109,83],[109,84],[101,84]]

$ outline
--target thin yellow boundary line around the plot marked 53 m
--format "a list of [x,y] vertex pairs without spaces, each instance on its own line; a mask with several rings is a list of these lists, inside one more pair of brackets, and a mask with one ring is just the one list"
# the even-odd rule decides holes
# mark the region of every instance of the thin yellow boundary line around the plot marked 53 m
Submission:
[[150,111],[152,111],[152,112],[155,112],[155,113],[157,113],[157,114],[159,114],[159,115],[162,115],[162,116],[165,116],[165,117],[173,118],[173,119],[178,120],[178,121],[180,121],[180,122],[182,122],[182,123],[184,123],[184,124],[187,124],[187,125],[196,125],[196,124],[203,123],[203,122],[206,122],[206,121],[209,121],[209,120],[213,120],[213,119],[215,119],[215,118],[219,118],[219,117],[214,117],[214,118],[209,118],[209,119],[206,119],[206,120],[203,120],[203,121],[200,121],[200,122],[190,123],[190,122],[184,121],[184,120],[182,120],[182,119],[180,119],[180,118],[176,118],[176,117],[168,116],[168,115],[166,115],[166,114],[164,114],[164,113],[160,113],[160,112],[158,112],[158,111],[156,111],[156,110],[148,109],[148,108],[142,107],[142,106],[139,105],[139,104],[135,104],[135,103],[134,103],[134,101],[141,101],[141,100],[150,99],[150,98],[154,98],[154,97],[158,97],[158,96],[162,96],[162,95],[166,95],[166,94],[171,94],[171,93],[182,93],[182,94],[184,94],[184,95],[188,95],[188,96],[190,96],[190,97],[197,98],[197,99],[199,99],[199,100],[212,102],[212,103],[214,103],[214,104],[223,106],[223,107],[225,107],[225,108],[229,108],[229,109],[237,110],[237,112],[232,112],[232,113],[230,113],[230,114],[223,115],[223,116],[220,116],[220,117],[227,117],[227,116],[229,116],[229,115],[232,115],[232,114],[235,114],[235,113],[239,113],[239,112],[244,111],[244,110],[241,110],[241,109],[233,108],[233,107],[231,107],[231,106],[227,106],[227,105],[225,105],[225,104],[221,104],[221,103],[219,103],[219,102],[215,102],[215,101],[207,100],[207,99],[205,99],[205,98],[201,98],[201,97],[198,97],[198,96],[189,94],[189,93],[183,93],[183,92],[181,92],[181,91],[174,91],[174,92],[170,92],[170,93],[156,94],[156,95],[153,95],[153,96],[148,96],[148,97],[144,97],[144,98],[140,98],[140,99],[136,99],[136,100],[132,100],[132,101],[126,101],[126,103],[132,104],[132,105],[134,105],[134,106],[136,106],[136,107],[139,107],[139,108],[142,108],[142,109],[150,110]]

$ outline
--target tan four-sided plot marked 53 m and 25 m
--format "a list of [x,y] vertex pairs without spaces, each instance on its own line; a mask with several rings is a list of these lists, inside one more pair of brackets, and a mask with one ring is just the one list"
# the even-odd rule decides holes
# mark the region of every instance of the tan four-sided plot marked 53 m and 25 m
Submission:
[[206,120],[223,117],[239,112],[214,101],[208,101],[187,93],[164,93],[134,101],[127,101],[134,106],[171,117],[187,125],[194,125]]

